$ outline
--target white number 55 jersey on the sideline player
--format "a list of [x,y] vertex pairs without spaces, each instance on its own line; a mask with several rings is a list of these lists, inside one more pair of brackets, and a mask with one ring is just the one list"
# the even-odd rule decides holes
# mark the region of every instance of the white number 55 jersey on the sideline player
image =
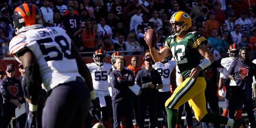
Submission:
[[86,66],[89,68],[91,72],[94,90],[108,92],[108,74],[112,70],[112,65],[108,63],[103,63],[103,65],[99,67],[95,63],[89,63],[86,64]]

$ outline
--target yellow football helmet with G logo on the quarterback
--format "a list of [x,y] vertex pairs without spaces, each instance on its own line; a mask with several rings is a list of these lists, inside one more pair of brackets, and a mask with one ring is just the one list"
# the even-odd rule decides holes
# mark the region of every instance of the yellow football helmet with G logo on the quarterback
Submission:
[[192,26],[191,17],[186,12],[180,11],[172,14],[170,23],[175,24],[177,22],[180,22],[180,27],[182,30],[178,33],[175,33],[176,36],[178,36],[182,31],[188,30]]

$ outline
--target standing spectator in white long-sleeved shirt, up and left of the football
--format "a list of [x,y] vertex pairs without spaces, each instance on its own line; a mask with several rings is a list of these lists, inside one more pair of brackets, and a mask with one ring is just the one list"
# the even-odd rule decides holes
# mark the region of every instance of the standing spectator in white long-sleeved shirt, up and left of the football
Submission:
[[136,14],[134,14],[130,20],[130,30],[134,29],[137,34],[138,33],[137,27],[141,22],[143,22],[142,20],[143,14],[141,13],[141,10],[142,10],[141,6],[136,6],[135,10],[136,10]]

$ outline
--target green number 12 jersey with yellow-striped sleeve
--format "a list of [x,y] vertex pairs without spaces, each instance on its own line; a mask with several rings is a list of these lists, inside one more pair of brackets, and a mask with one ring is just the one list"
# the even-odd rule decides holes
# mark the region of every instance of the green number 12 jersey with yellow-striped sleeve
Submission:
[[[187,33],[180,42],[177,42],[176,38],[175,35],[166,38],[165,47],[172,52],[183,80],[185,80],[189,77],[191,70],[201,63],[202,57],[197,49],[206,44],[207,41],[199,32],[195,31]],[[202,71],[199,72],[198,76],[203,77]]]

